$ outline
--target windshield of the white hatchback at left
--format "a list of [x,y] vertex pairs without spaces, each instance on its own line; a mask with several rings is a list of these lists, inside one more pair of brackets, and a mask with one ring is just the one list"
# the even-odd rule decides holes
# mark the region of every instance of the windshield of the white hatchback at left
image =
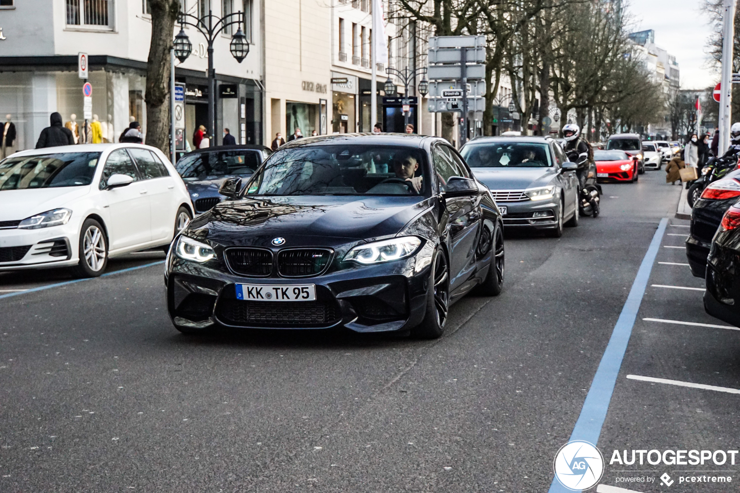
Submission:
[[0,162],[0,190],[90,185],[100,154],[58,152],[8,157]]

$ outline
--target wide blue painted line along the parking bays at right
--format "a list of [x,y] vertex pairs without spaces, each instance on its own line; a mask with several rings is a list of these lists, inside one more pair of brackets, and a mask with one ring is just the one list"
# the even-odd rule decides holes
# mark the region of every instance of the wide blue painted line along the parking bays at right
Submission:
[[[653,270],[656,256],[660,250],[665,228],[668,225],[668,219],[663,218],[658,224],[658,229],[653,234],[653,240],[647,247],[647,253],[642,258],[642,263],[637,271],[635,280],[630,288],[627,301],[622,307],[611,333],[609,344],[607,344],[604,355],[602,356],[596,375],[593,376],[591,388],[588,390],[586,399],[581,409],[581,414],[573,427],[569,441],[582,440],[594,445],[599,444],[599,435],[601,435],[602,426],[606,419],[606,413],[609,410],[611,396],[616,385],[616,377],[622,367],[622,359],[627,352],[627,346],[632,335],[632,327],[637,318],[637,312],[642,304],[642,297],[645,295],[647,282],[650,279],[650,272]],[[563,443],[564,445],[564,443]],[[565,488],[553,477],[548,493],[570,493],[571,489]]]

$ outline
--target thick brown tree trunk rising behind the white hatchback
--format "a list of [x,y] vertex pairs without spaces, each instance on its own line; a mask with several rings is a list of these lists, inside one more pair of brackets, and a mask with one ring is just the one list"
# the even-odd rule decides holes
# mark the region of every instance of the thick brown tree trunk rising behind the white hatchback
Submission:
[[147,59],[147,144],[169,155],[169,48],[179,0],[149,0],[152,42]]

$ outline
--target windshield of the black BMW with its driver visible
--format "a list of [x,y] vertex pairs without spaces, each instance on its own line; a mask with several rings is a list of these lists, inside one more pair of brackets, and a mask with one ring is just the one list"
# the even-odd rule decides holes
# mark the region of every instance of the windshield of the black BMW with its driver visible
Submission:
[[425,153],[400,146],[305,146],[282,149],[252,177],[249,195],[418,195]]

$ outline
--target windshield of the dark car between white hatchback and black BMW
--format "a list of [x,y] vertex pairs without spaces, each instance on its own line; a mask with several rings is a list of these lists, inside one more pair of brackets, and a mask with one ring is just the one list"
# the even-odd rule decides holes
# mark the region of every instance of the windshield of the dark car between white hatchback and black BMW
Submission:
[[206,180],[229,174],[252,174],[260,166],[258,152],[252,149],[196,152],[181,157],[175,169],[184,180]]

